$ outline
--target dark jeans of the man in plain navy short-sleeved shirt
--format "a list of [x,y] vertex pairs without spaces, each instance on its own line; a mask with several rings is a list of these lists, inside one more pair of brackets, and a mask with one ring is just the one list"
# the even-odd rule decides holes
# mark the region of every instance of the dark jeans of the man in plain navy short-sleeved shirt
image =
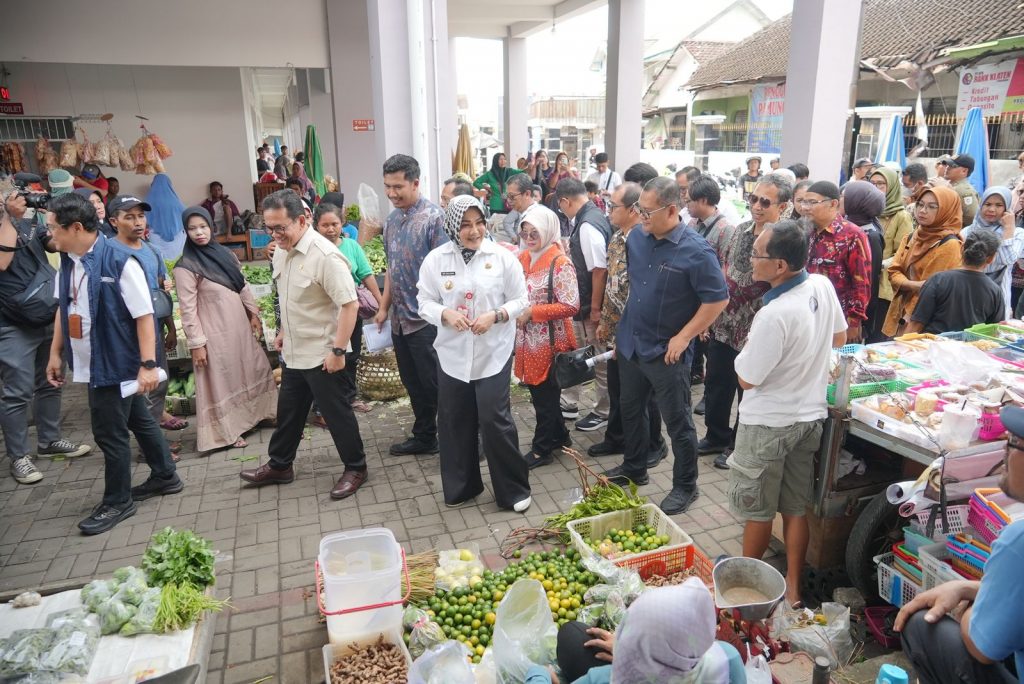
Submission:
[[647,472],[650,455],[650,415],[647,402],[653,394],[657,410],[672,440],[673,488],[697,485],[697,433],[690,408],[690,366],[666,365],[662,356],[652,361],[618,359],[621,408],[626,455],[623,469],[628,475]]

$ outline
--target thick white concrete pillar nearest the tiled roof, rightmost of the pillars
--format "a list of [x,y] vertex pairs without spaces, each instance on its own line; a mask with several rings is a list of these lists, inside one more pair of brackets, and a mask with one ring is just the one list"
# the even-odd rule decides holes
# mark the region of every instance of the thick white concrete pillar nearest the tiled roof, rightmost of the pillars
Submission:
[[856,87],[862,0],[795,0],[785,77],[782,164],[804,162],[811,178],[839,180]]

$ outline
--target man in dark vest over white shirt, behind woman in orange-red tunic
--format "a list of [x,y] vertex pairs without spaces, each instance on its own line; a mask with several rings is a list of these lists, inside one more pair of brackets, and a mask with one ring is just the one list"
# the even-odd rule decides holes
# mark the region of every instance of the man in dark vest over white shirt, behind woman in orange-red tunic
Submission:
[[[604,301],[604,282],[608,275],[608,240],[611,225],[604,212],[587,199],[587,187],[575,178],[563,178],[555,186],[555,201],[558,210],[568,217],[569,257],[577,271],[580,286],[580,312],[573,316],[577,322],[577,339],[582,344],[594,345],[595,351],[604,351],[604,345],[597,338],[597,324],[601,320],[601,304]],[[594,410],[575,427],[584,432],[600,430],[608,424],[608,376],[604,365],[597,366],[595,389],[597,402]],[[562,416],[575,418],[580,415],[580,388],[572,387],[562,392]]]

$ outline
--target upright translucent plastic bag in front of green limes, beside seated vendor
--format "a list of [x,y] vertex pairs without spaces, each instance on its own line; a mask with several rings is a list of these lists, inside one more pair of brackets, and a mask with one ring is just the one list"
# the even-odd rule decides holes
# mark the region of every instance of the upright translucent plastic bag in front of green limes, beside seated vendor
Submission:
[[541,583],[520,580],[509,587],[495,622],[498,682],[520,684],[530,666],[554,662],[557,642],[558,628]]

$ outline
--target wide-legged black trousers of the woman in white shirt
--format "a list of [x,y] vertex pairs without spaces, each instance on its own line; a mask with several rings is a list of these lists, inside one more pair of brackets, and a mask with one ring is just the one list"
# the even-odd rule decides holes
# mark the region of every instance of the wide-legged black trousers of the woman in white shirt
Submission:
[[489,378],[462,382],[444,371],[438,374],[438,389],[444,397],[437,408],[444,503],[458,504],[483,491],[477,442],[481,438],[498,506],[512,508],[529,496],[529,469],[519,452],[519,433],[512,418],[511,376],[511,356]]

